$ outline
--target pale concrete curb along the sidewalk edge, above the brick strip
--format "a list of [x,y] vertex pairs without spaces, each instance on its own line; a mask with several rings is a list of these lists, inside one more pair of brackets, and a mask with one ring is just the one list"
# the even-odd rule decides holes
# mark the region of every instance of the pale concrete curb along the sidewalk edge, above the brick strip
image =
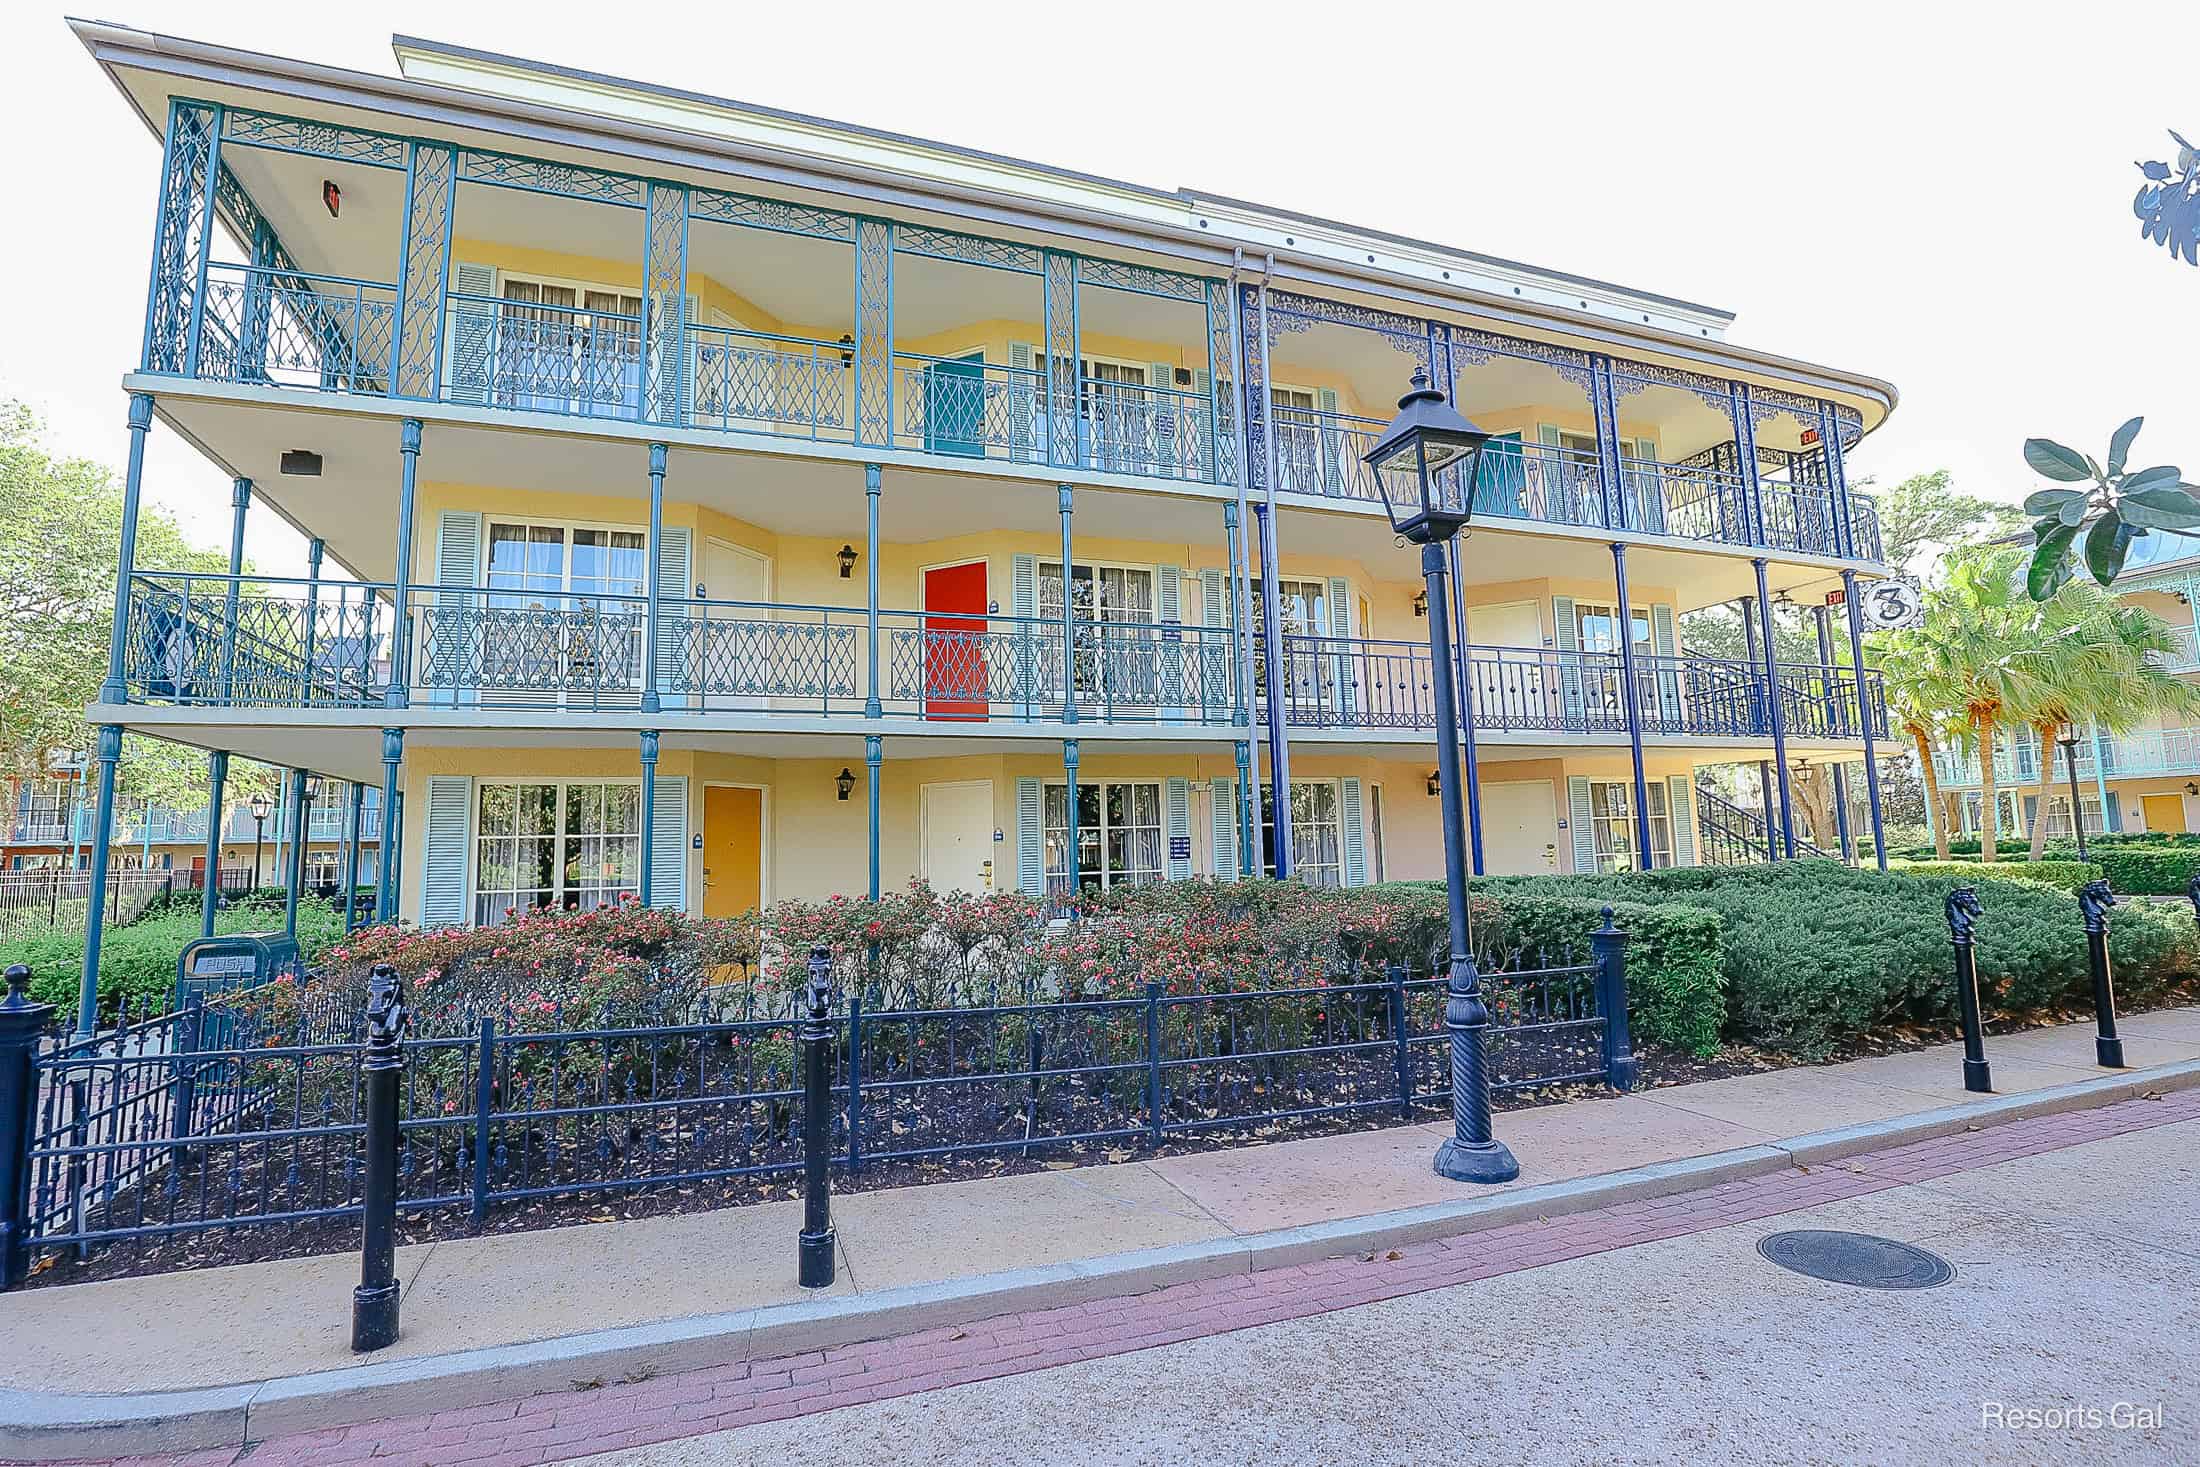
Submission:
[[1672,1196],[1929,1141],[2037,1115],[2110,1106],[2200,1087],[2200,1060],[1945,1106],[1863,1126],[1813,1130],[1624,1172],[1551,1181],[1496,1196],[1428,1203],[1331,1223],[1080,1258],[880,1293],[658,1320],[528,1344],[317,1370],[260,1383],[132,1394],[0,1390],[0,1456],[66,1460],[235,1447],[271,1436],[508,1401],[576,1383],[645,1379],[759,1355],[834,1348],[992,1315],[1056,1309],[1168,1284],[1280,1269],[1340,1254],[1452,1238],[1529,1218]]

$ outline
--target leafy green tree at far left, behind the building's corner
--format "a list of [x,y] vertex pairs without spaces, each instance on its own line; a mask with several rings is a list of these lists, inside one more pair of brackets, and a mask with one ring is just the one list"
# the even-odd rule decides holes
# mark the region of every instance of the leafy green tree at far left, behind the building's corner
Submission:
[[[22,402],[0,402],[0,768],[42,772],[62,750],[88,750],[84,708],[108,671],[114,563],[121,556],[123,488],[114,471],[57,457],[44,424]],[[139,565],[229,570],[200,550],[172,515],[139,510]],[[205,798],[205,757],[132,739],[123,787],[132,798],[187,805]]]

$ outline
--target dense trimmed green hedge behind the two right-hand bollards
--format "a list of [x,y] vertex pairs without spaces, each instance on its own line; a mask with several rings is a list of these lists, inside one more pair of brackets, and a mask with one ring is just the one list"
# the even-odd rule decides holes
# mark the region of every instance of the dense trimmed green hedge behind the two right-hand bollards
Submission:
[[[1723,917],[1729,1038],[1819,1058],[1888,1023],[1954,1018],[1943,902],[1960,875],[1850,871],[1837,862],[1681,867],[1624,875],[1494,878],[1489,893],[1544,886],[1588,900],[1696,906]],[[2079,1003],[2090,992],[2086,935],[2068,893],[1998,880],[1980,893],[1978,970],[2000,1012]],[[2191,915],[2125,908],[2110,957],[2127,999],[2145,999],[2196,961]],[[1630,968],[1632,972],[1632,968]]]

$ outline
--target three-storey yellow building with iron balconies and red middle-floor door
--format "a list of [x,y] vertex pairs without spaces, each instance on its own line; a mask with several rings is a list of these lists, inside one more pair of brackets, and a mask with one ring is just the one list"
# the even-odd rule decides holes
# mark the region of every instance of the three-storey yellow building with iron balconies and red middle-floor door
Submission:
[[[1877,812],[1822,607],[1885,574],[1844,455],[1894,389],[1723,310],[433,42],[75,29],[161,147],[132,504],[158,418],[312,563],[125,534],[95,772],[130,730],[378,787],[407,922],[1441,875],[1362,462],[1417,372],[1496,435],[1452,486],[1483,871],[1793,856],[1800,759]],[[1751,655],[1694,655],[1727,603]]]

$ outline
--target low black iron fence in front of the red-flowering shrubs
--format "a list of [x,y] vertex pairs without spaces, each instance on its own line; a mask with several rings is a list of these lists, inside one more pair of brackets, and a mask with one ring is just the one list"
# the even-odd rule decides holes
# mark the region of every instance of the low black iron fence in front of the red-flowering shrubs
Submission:
[[[1241,992],[1023,985],[922,1010],[849,994],[832,1016],[832,1161],[1434,1117],[1450,1108],[1443,985],[1390,968]],[[1615,992],[1617,963],[1487,974],[1494,1089],[1606,1080]],[[356,994],[308,979],[275,996],[194,1001],[92,1038],[29,1032],[37,1005],[20,992],[0,1007],[0,1069],[26,1082],[20,1113],[0,1095],[0,1179],[20,1177],[0,1278],[42,1249],[359,1216]],[[746,981],[675,1007],[623,1027],[572,1027],[550,1001],[440,1014],[405,1043],[398,1210],[482,1221],[530,1199],[801,1170],[792,1007]],[[13,1051],[11,1018],[31,1034]]]

